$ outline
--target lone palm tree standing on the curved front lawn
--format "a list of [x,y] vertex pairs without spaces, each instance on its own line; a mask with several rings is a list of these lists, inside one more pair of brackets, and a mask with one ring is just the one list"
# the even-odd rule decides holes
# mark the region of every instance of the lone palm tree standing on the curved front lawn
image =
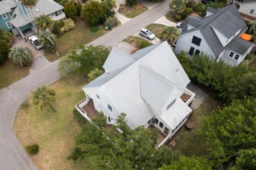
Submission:
[[41,88],[37,88],[37,90],[32,92],[33,95],[33,103],[38,107],[46,107],[49,106],[56,112],[56,110],[51,105],[51,102],[55,101],[55,92],[54,90],[48,89],[46,86],[42,86]]

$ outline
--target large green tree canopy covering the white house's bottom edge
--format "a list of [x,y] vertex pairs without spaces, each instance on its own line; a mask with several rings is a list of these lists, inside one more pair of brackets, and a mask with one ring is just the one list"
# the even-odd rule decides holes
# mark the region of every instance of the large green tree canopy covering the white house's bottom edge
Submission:
[[[89,158],[92,169],[158,169],[163,164],[177,160],[179,154],[167,146],[156,148],[158,133],[144,127],[131,129],[121,113],[116,126],[106,129],[106,116],[102,113],[93,118],[93,123],[85,124],[77,137],[69,160]],[[121,129],[123,133],[116,131]]]

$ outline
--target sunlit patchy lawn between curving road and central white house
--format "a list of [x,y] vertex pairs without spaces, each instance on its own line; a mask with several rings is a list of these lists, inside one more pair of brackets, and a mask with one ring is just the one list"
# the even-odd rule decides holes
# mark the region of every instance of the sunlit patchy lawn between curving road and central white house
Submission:
[[14,130],[23,146],[39,144],[39,152],[32,156],[38,169],[85,169],[85,161],[66,160],[74,146],[74,136],[81,126],[75,120],[73,109],[85,97],[81,89],[86,84],[86,78],[62,78],[49,88],[56,92],[56,102],[53,113],[47,107],[39,109],[28,99],[30,107],[19,109],[16,114]]

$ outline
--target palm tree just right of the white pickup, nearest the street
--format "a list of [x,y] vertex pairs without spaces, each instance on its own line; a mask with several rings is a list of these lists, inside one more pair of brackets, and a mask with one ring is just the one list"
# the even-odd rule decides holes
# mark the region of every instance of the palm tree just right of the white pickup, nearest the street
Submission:
[[41,42],[41,45],[46,47],[47,50],[50,50],[51,52],[55,50],[57,38],[49,29],[39,32],[38,39]]

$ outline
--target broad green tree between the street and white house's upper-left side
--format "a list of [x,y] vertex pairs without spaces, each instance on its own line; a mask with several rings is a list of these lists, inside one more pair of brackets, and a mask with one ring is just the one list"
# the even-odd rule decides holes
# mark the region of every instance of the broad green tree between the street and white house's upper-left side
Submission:
[[110,49],[105,46],[80,46],[60,59],[58,70],[63,76],[72,73],[80,76],[87,75],[96,68],[102,69],[108,54]]

